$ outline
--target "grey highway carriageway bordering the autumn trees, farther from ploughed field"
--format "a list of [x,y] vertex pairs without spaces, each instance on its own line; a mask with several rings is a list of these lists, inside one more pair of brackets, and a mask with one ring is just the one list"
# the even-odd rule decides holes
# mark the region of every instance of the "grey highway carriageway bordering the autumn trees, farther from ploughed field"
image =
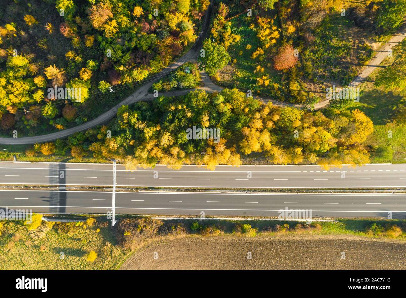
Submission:
[[[112,186],[112,164],[0,162],[0,185]],[[215,171],[194,165],[179,170],[126,171],[117,166],[117,186],[205,187],[241,189],[387,188],[406,187],[406,164],[371,164],[324,170],[317,165],[218,166]]]

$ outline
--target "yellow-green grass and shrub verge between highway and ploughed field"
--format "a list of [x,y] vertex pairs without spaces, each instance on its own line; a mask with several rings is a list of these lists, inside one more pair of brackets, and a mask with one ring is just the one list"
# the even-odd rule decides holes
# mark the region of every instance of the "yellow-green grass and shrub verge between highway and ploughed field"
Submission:
[[[42,221],[42,217],[57,221]],[[71,219],[84,221],[62,222]],[[406,221],[396,219],[335,219],[311,224],[248,218],[162,220],[136,215],[119,216],[118,219],[114,228],[110,227],[106,214],[33,214],[31,223],[1,221],[0,244],[3,249],[0,268],[114,269],[119,268],[132,251],[138,251],[147,244],[156,247],[151,242],[155,240],[181,244],[183,240],[203,238],[222,241],[217,237],[228,237],[239,243],[238,249],[244,254],[246,251],[240,241],[252,239],[255,241],[253,243],[263,247],[263,239],[269,237],[276,237],[279,243],[296,236],[304,236],[308,240],[312,237],[329,237],[337,243],[338,238],[343,239],[345,235],[357,236],[350,240],[379,240],[386,243],[382,245],[387,249],[391,248],[392,244],[389,243],[396,242],[397,253],[402,253],[406,241]],[[224,252],[228,252],[228,248]],[[96,257],[92,259],[91,255]]]

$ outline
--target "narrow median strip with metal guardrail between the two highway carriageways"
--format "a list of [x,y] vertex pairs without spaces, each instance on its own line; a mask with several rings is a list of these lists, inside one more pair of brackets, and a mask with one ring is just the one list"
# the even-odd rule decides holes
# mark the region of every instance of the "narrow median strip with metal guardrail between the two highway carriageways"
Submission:
[[[76,186],[21,186],[21,185],[2,185],[0,189],[4,190],[58,190],[58,191],[112,191],[112,187],[76,187]],[[134,191],[134,192],[201,192],[201,193],[406,193],[406,188],[397,189],[193,189],[193,188],[135,188],[135,187],[116,187],[116,192]]]

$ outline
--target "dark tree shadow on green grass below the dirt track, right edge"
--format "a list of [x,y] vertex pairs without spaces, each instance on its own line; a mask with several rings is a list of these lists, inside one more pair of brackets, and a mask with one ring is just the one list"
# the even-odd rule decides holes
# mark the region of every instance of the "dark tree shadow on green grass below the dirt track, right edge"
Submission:
[[359,100],[359,103],[363,104],[362,107],[354,106],[350,109],[361,109],[375,125],[385,125],[393,122],[396,107],[403,99],[403,96],[394,94],[392,91],[373,89],[362,93]]

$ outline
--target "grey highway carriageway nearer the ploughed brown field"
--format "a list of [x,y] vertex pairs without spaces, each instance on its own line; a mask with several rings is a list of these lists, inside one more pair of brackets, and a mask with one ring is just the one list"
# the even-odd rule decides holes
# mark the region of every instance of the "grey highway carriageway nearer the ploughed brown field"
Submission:
[[[107,214],[112,193],[4,191],[0,207],[49,213]],[[279,210],[311,210],[311,217],[406,217],[406,194],[116,193],[116,213],[275,217]]]

